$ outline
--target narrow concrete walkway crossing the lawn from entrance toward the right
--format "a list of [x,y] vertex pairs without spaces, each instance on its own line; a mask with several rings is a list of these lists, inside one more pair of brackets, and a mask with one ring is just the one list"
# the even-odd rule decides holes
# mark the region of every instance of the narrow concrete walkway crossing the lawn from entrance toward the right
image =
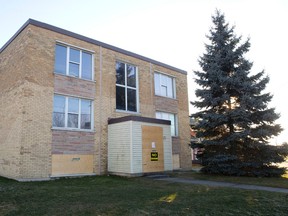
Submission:
[[175,177],[167,177],[167,176],[163,176],[163,177],[159,176],[158,178],[154,178],[154,179],[159,180],[159,181],[167,181],[167,182],[175,182],[175,183],[207,185],[210,187],[230,187],[230,188],[239,188],[239,189],[245,189],[245,190],[262,190],[262,191],[270,191],[270,192],[288,193],[288,189],[286,188],[274,188],[274,187],[266,187],[266,186],[258,186],[258,185],[246,185],[246,184],[196,180],[196,179],[178,178],[178,177],[175,178]]

